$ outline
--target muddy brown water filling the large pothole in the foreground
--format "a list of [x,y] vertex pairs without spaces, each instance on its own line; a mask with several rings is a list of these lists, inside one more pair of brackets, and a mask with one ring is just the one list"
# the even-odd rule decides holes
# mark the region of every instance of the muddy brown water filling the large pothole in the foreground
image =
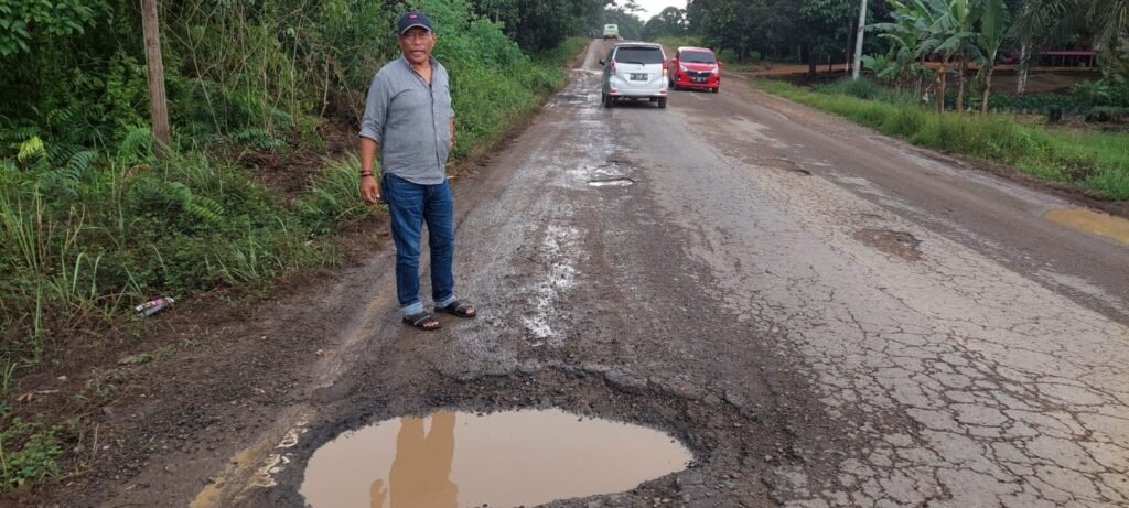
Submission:
[[534,506],[622,492],[686,467],[657,430],[563,411],[438,412],[342,435],[314,453],[314,508]]

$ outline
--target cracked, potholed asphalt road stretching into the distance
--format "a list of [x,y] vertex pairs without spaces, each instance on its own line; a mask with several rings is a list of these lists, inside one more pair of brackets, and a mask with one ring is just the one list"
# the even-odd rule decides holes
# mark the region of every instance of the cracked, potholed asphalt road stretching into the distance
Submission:
[[[382,422],[397,436],[401,421],[429,418],[430,439],[443,423],[429,415],[472,426],[528,410],[638,426],[692,457],[636,472],[642,483],[620,492],[489,499],[1129,505],[1124,244],[1045,220],[1071,208],[1060,198],[736,77],[720,94],[672,91],[667,110],[604,108],[596,61],[606,50],[589,47],[569,88],[458,178],[458,294],[476,319],[444,318],[437,333],[399,325],[393,256],[375,254],[358,270],[365,284],[334,289],[350,305],[321,317],[308,340],[324,351],[300,365],[305,383],[186,430],[189,441],[218,432],[222,443],[150,454],[78,505],[300,507],[316,465],[329,479],[334,466],[357,476],[341,487],[357,506],[390,493],[395,508],[396,480],[383,479],[408,452],[371,445],[371,467],[385,471],[367,475],[356,474],[364,459],[313,457]],[[490,463],[590,445],[528,426],[541,431],[498,430],[518,444],[498,445]],[[473,470],[460,446],[480,445],[461,436],[493,433],[455,429],[454,468]],[[422,439],[423,424],[413,432]],[[588,473],[583,459],[544,455],[562,484]],[[470,496],[484,489],[479,476],[437,484]]]

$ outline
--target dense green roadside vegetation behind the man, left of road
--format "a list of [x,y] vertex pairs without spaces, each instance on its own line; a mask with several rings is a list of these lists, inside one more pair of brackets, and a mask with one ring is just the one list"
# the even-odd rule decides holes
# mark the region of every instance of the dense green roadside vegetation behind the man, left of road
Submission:
[[[549,29],[504,26],[492,3],[413,2],[452,75],[456,161],[564,84],[585,44],[569,36],[602,8],[543,6]],[[21,378],[64,366],[68,350],[121,347],[140,330],[132,307],[151,298],[254,292],[333,265],[340,227],[373,213],[352,140],[369,79],[399,55],[404,3],[160,2],[166,157],[138,9],[0,1],[0,492],[63,474],[81,429],[37,410]],[[280,174],[304,184],[280,189]],[[95,388],[63,405],[110,395]]]

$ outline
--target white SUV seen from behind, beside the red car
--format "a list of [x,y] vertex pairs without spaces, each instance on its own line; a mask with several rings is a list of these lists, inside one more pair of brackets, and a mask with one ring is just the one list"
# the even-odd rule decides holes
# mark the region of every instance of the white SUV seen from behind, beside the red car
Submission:
[[649,99],[666,107],[666,54],[663,46],[648,43],[620,43],[612,47],[604,65],[601,99],[605,107],[616,100]]

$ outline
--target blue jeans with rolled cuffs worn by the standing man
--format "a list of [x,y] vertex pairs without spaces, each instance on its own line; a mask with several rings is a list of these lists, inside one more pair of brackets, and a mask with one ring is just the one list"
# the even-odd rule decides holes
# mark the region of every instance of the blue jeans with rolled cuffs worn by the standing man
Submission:
[[419,185],[384,175],[382,194],[392,216],[396,244],[396,298],[404,314],[423,310],[420,301],[420,239],[427,222],[431,246],[431,297],[443,306],[455,299],[455,203],[447,182]]

